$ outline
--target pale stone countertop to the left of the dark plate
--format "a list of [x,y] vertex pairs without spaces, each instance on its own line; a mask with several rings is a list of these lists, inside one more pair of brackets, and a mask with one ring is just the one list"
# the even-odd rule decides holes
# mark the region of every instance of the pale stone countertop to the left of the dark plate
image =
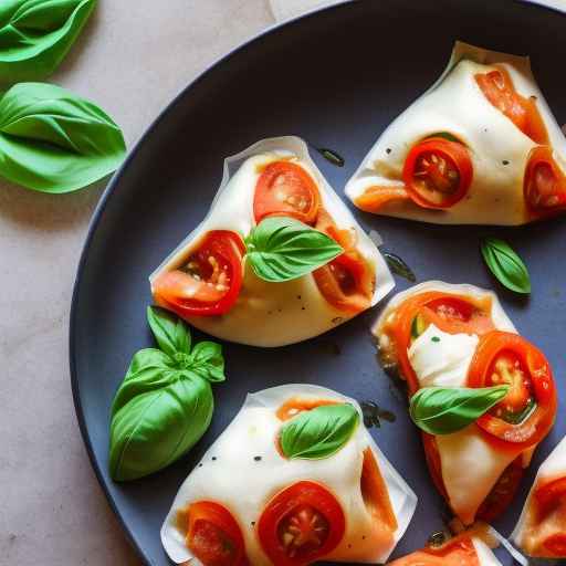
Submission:
[[[269,24],[268,0],[99,0],[51,81],[92,98],[128,147],[217,57]],[[103,186],[0,181],[0,565],[139,565],[91,469],[71,396],[69,311]]]

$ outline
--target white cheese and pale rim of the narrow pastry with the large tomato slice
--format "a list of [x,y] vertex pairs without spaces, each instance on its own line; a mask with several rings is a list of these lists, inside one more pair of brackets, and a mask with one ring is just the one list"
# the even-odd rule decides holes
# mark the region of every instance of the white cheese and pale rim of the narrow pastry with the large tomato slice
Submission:
[[[429,281],[391,298],[377,321],[374,333],[381,344],[380,329],[396,308],[411,296],[429,291],[492,300],[492,319],[497,329],[516,332],[497,296],[473,285],[453,285]],[[440,338],[438,342],[433,337]],[[429,325],[408,350],[409,361],[422,387],[465,387],[468,369],[479,338],[469,334],[447,334]],[[475,512],[490,493],[505,468],[517,458],[518,451],[502,452],[480,433],[475,424],[452,434],[437,436],[442,480],[449,504],[464,524],[474,522]]]

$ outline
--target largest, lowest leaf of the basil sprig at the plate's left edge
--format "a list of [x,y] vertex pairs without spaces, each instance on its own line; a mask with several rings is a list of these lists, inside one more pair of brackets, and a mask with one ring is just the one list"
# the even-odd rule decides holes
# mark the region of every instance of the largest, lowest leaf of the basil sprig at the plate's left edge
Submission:
[[210,384],[177,375],[166,387],[137,395],[112,419],[109,470],[136,480],[169,465],[206,432],[213,411]]

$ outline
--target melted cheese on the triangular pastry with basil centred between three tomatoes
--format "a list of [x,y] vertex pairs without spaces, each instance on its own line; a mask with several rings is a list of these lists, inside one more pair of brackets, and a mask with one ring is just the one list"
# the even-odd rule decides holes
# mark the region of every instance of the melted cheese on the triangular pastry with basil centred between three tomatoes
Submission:
[[[150,283],[164,271],[182,264],[199,239],[211,230],[232,230],[248,235],[255,224],[253,196],[256,181],[265,165],[282,158],[291,159],[308,171],[318,186],[322,206],[337,227],[355,232],[356,247],[376,274],[371,305],[389,293],[395,282],[377,247],[324,179],[311,159],[306,144],[296,137],[265,139],[228,158],[222,184],[208,216],[150,275]],[[187,319],[219,338],[269,347],[317,336],[352,316],[324,298],[312,274],[284,283],[269,283],[244,265],[242,290],[229,313]]]

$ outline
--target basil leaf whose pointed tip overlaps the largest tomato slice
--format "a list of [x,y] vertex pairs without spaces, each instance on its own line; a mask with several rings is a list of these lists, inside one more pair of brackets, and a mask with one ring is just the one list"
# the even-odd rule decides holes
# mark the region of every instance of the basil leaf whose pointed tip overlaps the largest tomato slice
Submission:
[[411,398],[410,416],[415,424],[430,434],[450,434],[462,430],[507,395],[509,386],[423,387]]

